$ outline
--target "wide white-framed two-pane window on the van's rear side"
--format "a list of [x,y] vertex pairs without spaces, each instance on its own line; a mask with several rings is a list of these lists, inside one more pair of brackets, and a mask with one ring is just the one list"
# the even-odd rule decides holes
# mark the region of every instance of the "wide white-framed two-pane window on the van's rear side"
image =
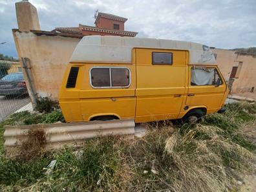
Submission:
[[131,82],[130,70],[125,67],[94,67],[90,76],[94,88],[123,88]]

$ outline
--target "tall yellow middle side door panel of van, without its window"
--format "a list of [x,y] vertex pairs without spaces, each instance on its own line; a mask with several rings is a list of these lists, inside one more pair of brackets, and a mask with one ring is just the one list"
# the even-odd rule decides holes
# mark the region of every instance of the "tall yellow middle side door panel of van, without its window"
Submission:
[[[153,52],[171,52],[171,65],[153,65]],[[135,122],[175,119],[186,99],[186,50],[136,48]]]

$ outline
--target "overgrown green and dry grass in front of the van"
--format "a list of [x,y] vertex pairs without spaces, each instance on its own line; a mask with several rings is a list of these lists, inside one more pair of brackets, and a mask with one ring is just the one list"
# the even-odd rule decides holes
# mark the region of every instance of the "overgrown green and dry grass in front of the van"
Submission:
[[[255,122],[256,105],[232,103],[173,133],[169,123],[151,123],[144,138],[98,137],[74,149],[10,159],[3,150],[3,125],[56,122],[58,111],[14,114],[1,123],[0,191],[234,191],[237,175],[255,165],[255,145],[242,127]],[[31,120],[32,118],[32,120]],[[50,171],[51,160],[57,163]]]

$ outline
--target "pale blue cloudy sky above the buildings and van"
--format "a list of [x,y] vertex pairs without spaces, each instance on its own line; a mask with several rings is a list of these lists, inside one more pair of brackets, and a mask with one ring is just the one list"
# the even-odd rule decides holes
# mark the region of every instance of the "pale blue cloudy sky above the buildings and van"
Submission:
[[[12,28],[14,0],[0,0],[0,52],[17,58]],[[41,30],[94,25],[94,12],[127,17],[125,30],[138,37],[177,39],[217,48],[256,47],[255,0],[30,0]]]

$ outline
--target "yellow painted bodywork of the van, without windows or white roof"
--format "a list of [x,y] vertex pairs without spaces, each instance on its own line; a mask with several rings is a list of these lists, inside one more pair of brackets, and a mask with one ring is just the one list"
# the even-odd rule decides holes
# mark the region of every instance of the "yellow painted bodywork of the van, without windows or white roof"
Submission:
[[[153,65],[152,52],[172,52],[173,64]],[[223,83],[219,87],[191,86],[188,50],[133,48],[131,54],[133,63],[68,65],[59,93],[59,104],[67,122],[90,121],[106,115],[133,118],[136,123],[150,122],[182,118],[187,111],[198,107],[206,108],[208,114],[222,107],[228,94],[223,77],[220,75]],[[76,88],[67,89],[70,67],[74,66],[80,67]],[[95,89],[90,84],[92,67],[127,67],[131,71],[131,85],[121,89]]]

